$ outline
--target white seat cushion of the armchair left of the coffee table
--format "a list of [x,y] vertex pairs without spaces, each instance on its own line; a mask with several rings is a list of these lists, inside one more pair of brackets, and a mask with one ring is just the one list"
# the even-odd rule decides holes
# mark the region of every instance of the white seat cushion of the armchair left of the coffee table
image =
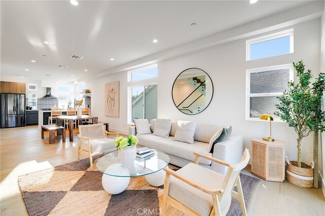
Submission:
[[[90,139],[90,145],[93,154],[116,148],[115,139],[109,138]],[[82,142],[81,149],[89,152],[88,142]]]

